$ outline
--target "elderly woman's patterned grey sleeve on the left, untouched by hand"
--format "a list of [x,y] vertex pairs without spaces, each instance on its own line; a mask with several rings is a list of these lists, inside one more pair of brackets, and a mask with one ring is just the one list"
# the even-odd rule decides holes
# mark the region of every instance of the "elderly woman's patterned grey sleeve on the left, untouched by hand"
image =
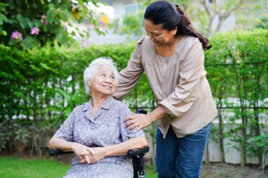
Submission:
[[61,127],[54,134],[55,137],[59,139],[64,139],[66,141],[74,141],[73,139],[73,123],[75,119],[75,113],[72,113],[68,116],[68,118],[63,122]]

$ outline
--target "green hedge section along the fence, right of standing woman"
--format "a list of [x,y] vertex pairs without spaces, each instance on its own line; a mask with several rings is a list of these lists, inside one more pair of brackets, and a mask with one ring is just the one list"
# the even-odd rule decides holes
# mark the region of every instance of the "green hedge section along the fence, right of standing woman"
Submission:
[[[212,138],[219,141],[224,160],[224,137],[236,142],[241,164],[246,157],[267,153],[268,30],[229,32],[212,38],[212,49],[205,52],[207,78],[217,99],[219,128]],[[230,98],[233,98],[231,100]],[[226,115],[232,114],[229,117]],[[224,122],[231,130],[224,132]],[[262,139],[262,144],[255,138]],[[266,145],[266,146],[264,146]]]

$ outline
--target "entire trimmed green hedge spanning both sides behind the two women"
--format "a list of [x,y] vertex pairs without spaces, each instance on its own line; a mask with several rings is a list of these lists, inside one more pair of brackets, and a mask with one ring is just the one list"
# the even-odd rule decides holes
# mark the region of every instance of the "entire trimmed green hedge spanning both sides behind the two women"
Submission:
[[[207,78],[217,106],[233,108],[235,115],[231,122],[242,118],[243,125],[238,130],[245,132],[243,138],[231,135],[242,147],[248,141],[247,125],[256,131],[250,137],[260,135],[257,121],[261,113],[267,113],[263,109],[267,107],[264,99],[268,95],[267,39],[268,30],[217,34],[211,39],[212,49],[205,51]],[[4,146],[23,143],[32,151],[41,152],[42,137],[51,136],[53,128],[59,127],[75,106],[89,99],[84,91],[83,70],[90,61],[110,56],[121,70],[126,67],[135,44],[31,51],[0,45],[0,151]],[[229,97],[238,98],[238,106],[230,103]],[[126,102],[130,108],[155,107],[145,75],[128,94]]]

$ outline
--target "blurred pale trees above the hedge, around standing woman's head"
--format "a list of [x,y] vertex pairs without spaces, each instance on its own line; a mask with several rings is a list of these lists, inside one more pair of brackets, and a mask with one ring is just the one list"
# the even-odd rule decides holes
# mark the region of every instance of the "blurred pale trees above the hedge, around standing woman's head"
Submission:
[[[155,0],[135,0],[139,4],[139,11],[128,13],[123,20],[115,20],[114,30],[121,34],[128,34],[129,37],[145,34],[143,29],[143,15],[147,6]],[[181,6],[183,11],[190,17],[193,27],[197,28],[206,37],[213,37],[222,30],[251,30],[256,25],[267,27],[267,2],[262,0],[256,3],[255,0],[170,0],[173,4]],[[247,15],[245,15],[247,14]],[[229,18],[236,21],[229,25]],[[232,23],[232,22],[231,22]]]

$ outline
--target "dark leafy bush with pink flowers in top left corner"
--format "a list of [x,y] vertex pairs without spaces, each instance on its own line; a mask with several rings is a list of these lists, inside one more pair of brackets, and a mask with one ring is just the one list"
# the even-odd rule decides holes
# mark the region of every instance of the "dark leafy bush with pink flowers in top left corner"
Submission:
[[[38,46],[77,46],[75,38],[89,37],[77,24],[87,21],[94,30],[104,25],[90,7],[98,0],[4,0],[0,2],[0,42],[6,46],[32,49]],[[19,8],[18,8],[19,7]],[[36,28],[38,32],[32,33]],[[14,32],[20,37],[12,37]]]

